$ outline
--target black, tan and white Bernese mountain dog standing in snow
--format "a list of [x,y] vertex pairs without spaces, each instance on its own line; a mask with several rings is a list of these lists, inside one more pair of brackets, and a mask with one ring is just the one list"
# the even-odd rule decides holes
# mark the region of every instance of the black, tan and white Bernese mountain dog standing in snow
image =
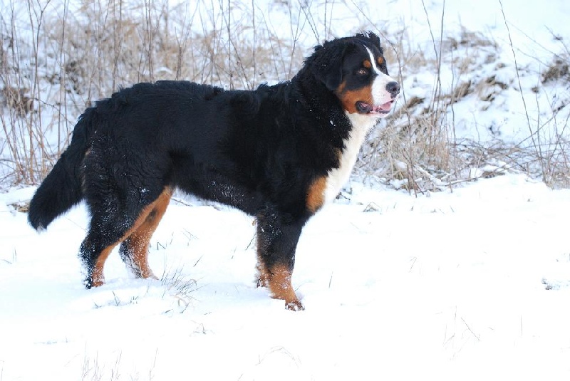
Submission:
[[227,204],[257,219],[258,286],[300,310],[291,275],[301,229],[336,198],[399,93],[372,32],[325,41],[294,78],[256,90],[138,83],[78,118],[28,221],[41,231],[85,200],[79,256],[91,288],[117,245],[135,276],[154,277],[149,241],[176,189]]

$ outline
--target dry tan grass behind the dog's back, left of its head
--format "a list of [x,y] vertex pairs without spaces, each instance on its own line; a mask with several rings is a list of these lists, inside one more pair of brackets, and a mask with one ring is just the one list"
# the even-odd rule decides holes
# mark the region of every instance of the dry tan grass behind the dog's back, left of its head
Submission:
[[44,0],[3,7],[2,187],[40,182],[68,145],[77,116],[120,87],[184,79],[254,88],[261,78],[289,78],[303,58],[295,47],[299,36],[279,38],[263,18],[253,27],[251,19],[230,19],[256,11],[245,0],[175,7],[166,0],[83,0],[75,9],[67,0]]

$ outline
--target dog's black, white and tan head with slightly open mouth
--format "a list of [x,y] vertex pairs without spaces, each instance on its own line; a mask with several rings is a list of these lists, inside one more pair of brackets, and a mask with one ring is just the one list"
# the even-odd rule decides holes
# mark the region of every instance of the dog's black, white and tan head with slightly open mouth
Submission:
[[372,32],[326,41],[306,64],[349,114],[383,118],[400,94],[400,84],[388,75],[380,38]]

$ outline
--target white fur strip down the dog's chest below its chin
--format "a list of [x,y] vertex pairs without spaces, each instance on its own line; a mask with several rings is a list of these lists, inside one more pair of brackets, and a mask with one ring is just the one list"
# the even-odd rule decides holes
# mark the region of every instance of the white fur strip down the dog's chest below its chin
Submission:
[[344,150],[339,160],[339,167],[331,169],[328,172],[325,188],[325,201],[331,202],[336,199],[338,192],[351,177],[351,172],[358,158],[358,152],[366,139],[366,135],[376,124],[376,120],[366,115],[350,114],[348,119],[351,120],[352,130],[348,139],[344,140]]

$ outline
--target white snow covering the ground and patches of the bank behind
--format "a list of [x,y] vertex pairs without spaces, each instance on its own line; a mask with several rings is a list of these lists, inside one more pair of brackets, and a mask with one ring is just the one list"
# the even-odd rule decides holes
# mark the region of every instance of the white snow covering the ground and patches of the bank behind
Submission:
[[[282,15],[283,3],[271,4],[266,13]],[[418,51],[434,53],[425,12],[437,38],[442,1],[392,1],[381,11],[377,4],[328,2],[331,33],[405,25]],[[567,104],[567,85],[540,96],[530,89],[560,51],[553,34],[570,37],[569,4],[502,1],[533,123],[548,118],[550,103]],[[356,6],[368,24],[348,16]],[[274,25],[289,33],[289,19]],[[499,1],[446,1],[445,28],[480,31],[502,46],[491,63],[477,47],[480,66],[470,78],[494,75],[497,88],[492,103],[471,94],[455,104],[455,115],[467,115],[456,120],[457,136],[526,139]],[[314,43],[310,29],[299,41]],[[408,98],[430,97],[434,73],[405,74]],[[457,73],[446,69],[441,80],[450,87]],[[255,226],[234,209],[176,194],[150,244],[160,279],[133,278],[115,250],[105,286],[86,290],[77,256],[84,205],[38,234],[16,211],[35,189],[4,189],[0,381],[569,380],[570,189],[550,189],[501,162],[471,174],[418,194],[353,177],[301,235],[299,312],[256,287]]]

